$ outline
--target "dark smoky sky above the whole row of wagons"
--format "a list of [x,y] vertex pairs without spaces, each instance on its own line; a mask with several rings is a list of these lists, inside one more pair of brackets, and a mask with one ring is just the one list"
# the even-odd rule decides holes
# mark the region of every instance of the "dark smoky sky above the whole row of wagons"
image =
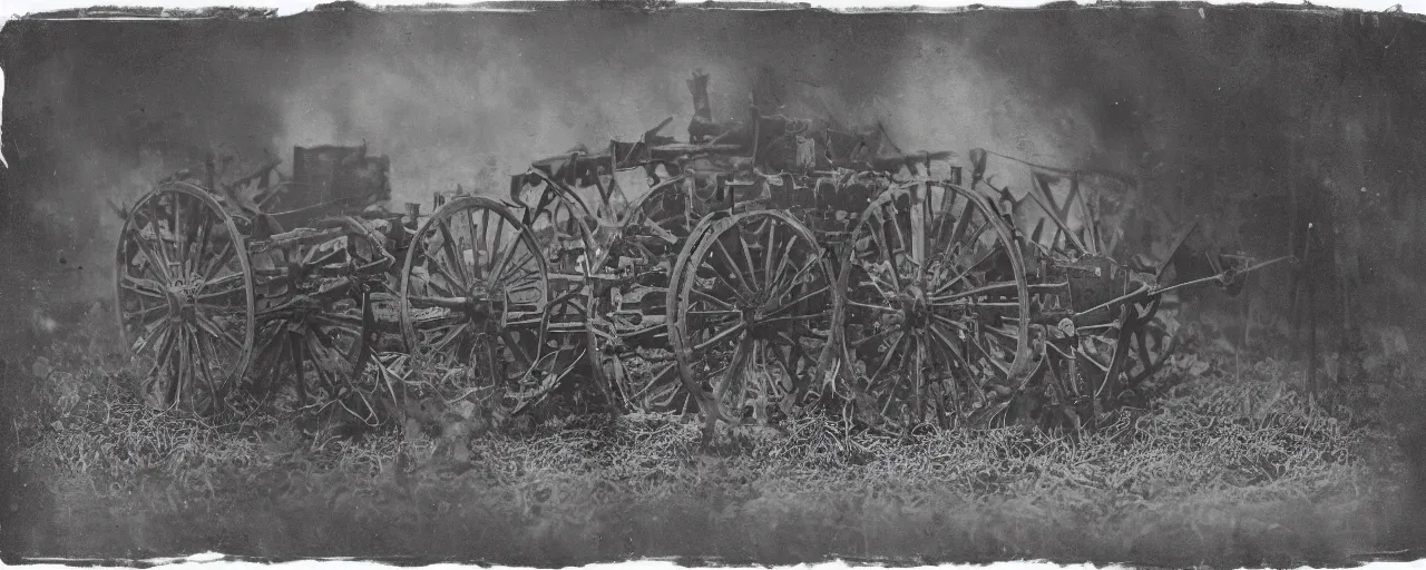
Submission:
[[[1259,255],[1286,248],[1291,219],[1345,228],[1332,248],[1370,278],[1372,232],[1420,239],[1423,60],[1426,24],[1407,16],[1215,6],[10,21],[0,221],[19,247],[0,271],[7,295],[36,275],[108,295],[106,200],[214,145],[291,160],[292,144],[365,140],[391,157],[398,198],[428,202],[455,184],[502,191],[530,160],[670,115],[682,137],[694,68],[713,74],[719,118],[742,117],[769,68],[903,147],[1129,172]],[[86,269],[54,274],[60,255]]]

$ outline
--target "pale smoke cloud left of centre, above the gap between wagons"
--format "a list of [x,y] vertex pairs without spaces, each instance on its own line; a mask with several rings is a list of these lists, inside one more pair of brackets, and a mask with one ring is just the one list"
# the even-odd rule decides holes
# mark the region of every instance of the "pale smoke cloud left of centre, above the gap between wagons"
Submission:
[[281,121],[272,147],[365,141],[391,157],[398,202],[429,204],[431,192],[458,184],[503,195],[535,160],[580,144],[597,152],[670,115],[683,121],[665,134],[677,135],[692,114],[683,87],[692,67],[550,73],[502,33],[441,51],[314,54],[299,70],[302,83],[270,95]]

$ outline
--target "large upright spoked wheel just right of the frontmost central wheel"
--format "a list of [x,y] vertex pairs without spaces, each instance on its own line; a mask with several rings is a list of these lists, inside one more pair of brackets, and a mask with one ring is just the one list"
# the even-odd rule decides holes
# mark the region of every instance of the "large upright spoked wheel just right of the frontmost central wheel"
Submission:
[[861,214],[844,259],[843,378],[863,422],[984,423],[1022,388],[1025,268],[983,197],[935,182],[894,187]]

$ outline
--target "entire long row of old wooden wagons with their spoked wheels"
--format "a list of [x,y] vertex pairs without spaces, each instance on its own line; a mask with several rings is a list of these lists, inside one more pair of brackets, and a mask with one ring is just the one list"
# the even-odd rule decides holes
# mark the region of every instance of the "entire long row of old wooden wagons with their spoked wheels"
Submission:
[[710,429],[829,403],[897,429],[1079,428],[1172,351],[1179,288],[1258,266],[1188,232],[1127,258],[1124,177],[756,107],[719,124],[706,86],[686,142],[665,121],[429,212],[382,208],[389,161],[365,147],[160,184],[117,258],[140,373],[164,405],[291,379],[372,422],[398,389],[508,416],[583,376]]

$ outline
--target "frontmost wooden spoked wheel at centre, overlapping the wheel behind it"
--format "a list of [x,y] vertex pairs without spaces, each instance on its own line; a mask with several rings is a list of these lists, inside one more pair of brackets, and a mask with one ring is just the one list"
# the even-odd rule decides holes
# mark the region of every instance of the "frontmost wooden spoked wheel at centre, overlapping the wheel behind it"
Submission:
[[830,258],[781,211],[734,214],[697,235],[667,304],[680,380],[709,428],[774,423],[817,380],[836,305]]

